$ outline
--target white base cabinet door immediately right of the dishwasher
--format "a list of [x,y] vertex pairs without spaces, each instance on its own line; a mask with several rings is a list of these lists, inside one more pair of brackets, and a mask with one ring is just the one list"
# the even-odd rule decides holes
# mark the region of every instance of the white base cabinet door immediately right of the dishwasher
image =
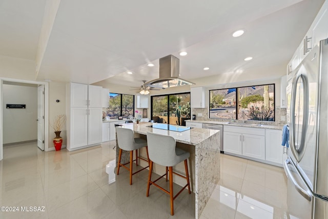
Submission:
[[223,131],[224,152],[242,155],[241,137],[241,133]]

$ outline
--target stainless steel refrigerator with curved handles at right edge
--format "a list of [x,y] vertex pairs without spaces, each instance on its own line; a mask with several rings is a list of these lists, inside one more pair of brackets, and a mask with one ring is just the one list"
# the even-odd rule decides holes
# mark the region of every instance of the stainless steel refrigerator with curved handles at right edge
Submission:
[[328,218],[328,39],[288,76],[288,218]]

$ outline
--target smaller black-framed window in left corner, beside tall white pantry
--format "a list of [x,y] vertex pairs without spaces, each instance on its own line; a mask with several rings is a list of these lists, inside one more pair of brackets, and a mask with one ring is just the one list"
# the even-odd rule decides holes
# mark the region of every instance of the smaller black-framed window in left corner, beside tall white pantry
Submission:
[[118,118],[123,116],[127,118],[129,115],[134,116],[134,95],[109,93],[109,108],[107,115],[110,118]]

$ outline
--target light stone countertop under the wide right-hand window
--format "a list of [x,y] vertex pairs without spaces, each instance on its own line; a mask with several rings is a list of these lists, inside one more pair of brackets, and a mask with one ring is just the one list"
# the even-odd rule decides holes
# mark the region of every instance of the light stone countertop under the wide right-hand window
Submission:
[[260,128],[260,129],[275,129],[275,130],[282,130],[282,126],[276,125],[262,125],[259,124],[257,121],[246,121],[243,122],[222,122],[222,121],[207,121],[207,120],[186,120],[186,122],[193,122],[193,123],[207,123],[207,124],[216,124],[216,125],[224,125],[224,126],[239,126],[239,127],[249,127],[249,128]]

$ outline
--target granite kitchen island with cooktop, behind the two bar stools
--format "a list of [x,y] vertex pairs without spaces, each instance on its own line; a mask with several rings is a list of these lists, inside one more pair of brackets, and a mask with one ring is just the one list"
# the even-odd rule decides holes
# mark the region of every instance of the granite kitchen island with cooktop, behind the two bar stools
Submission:
[[[191,189],[195,193],[195,217],[198,218],[206,206],[214,188],[220,179],[220,135],[218,130],[191,128],[189,130],[163,130],[152,128],[150,126],[156,123],[128,123],[121,124],[121,127],[134,130],[136,135],[145,138],[147,132],[170,135],[175,138],[178,148],[190,152],[188,159],[190,170]],[[167,125],[167,124],[163,124]],[[171,127],[177,127],[172,126]],[[179,126],[181,128],[186,128]],[[129,161],[130,153],[122,153],[122,162]],[[118,150],[116,150],[116,160],[118,159]],[[116,162],[117,165],[117,162]],[[175,170],[179,172],[179,165]],[[155,168],[156,169],[156,168]],[[160,169],[160,168],[157,168]],[[165,169],[165,167],[164,167]],[[163,169],[162,169],[163,170]],[[163,171],[154,171],[162,174]],[[182,170],[182,168],[181,168]],[[165,170],[164,170],[165,172]],[[181,171],[182,172],[182,171]],[[174,183],[180,184],[176,178]],[[185,183],[185,182],[183,182]],[[147,185],[145,185],[147,186]]]

